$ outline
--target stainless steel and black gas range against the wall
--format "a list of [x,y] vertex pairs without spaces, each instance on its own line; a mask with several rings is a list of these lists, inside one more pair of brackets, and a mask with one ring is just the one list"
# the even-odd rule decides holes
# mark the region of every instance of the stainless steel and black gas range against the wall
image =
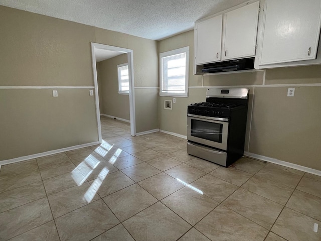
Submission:
[[249,89],[211,88],[187,111],[187,153],[224,167],[244,154]]

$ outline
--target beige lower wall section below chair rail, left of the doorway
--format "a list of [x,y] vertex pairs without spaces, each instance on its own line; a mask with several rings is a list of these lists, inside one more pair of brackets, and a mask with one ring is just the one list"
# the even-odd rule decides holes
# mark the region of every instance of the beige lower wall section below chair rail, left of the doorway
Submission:
[[97,141],[88,89],[0,89],[0,160]]

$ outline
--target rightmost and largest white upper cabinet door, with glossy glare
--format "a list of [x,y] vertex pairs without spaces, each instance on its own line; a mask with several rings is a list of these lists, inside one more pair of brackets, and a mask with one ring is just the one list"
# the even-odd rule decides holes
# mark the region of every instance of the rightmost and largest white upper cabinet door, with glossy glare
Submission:
[[259,65],[315,59],[320,0],[266,0]]

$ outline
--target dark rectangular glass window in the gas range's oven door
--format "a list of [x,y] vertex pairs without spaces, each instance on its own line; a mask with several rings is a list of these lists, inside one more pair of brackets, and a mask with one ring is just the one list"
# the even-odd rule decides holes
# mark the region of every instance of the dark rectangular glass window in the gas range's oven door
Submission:
[[223,124],[192,119],[191,136],[222,143]]

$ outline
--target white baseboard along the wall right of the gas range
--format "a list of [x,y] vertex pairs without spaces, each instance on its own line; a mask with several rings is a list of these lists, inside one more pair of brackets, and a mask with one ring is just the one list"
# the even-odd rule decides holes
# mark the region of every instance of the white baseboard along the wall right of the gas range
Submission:
[[294,163],[290,163],[290,162],[284,162],[278,159],[274,159],[274,158],[270,158],[270,157],[265,157],[265,156],[261,156],[261,155],[257,155],[254,153],[250,153],[250,152],[244,152],[244,156],[247,157],[252,157],[261,161],[266,161],[266,162],[271,162],[271,163],[275,163],[284,167],[289,167],[289,168],[293,168],[299,171],[303,171],[303,172],[307,172],[307,173],[311,173],[317,176],[321,176],[321,171],[316,170],[316,169],[312,169],[309,167],[304,167],[304,166],[300,166]]

